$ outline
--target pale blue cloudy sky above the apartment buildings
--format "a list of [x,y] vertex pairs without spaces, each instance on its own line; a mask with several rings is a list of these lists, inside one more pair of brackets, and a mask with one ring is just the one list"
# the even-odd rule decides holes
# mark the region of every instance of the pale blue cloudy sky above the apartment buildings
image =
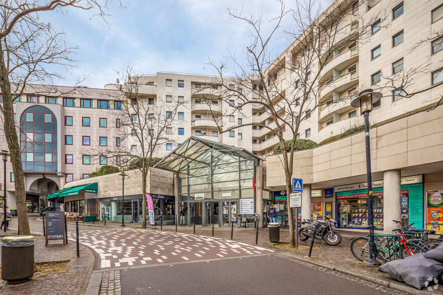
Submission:
[[[291,9],[292,1],[285,3]],[[324,2],[324,0],[323,0]],[[208,61],[226,61],[231,52],[242,54],[250,40],[247,25],[231,19],[228,9],[243,15],[262,17],[266,34],[275,25],[270,21],[280,12],[273,0],[122,0],[108,5],[106,22],[90,17],[91,12],[69,8],[60,12],[45,12],[41,18],[51,22],[55,30],[63,31],[72,47],[75,68],[62,72],[65,79],[54,84],[73,86],[84,76],[81,85],[103,88],[115,83],[117,72],[131,65],[137,74],[179,72],[214,74]],[[331,3],[326,1],[327,5]],[[272,54],[278,56],[293,41],[287,33],[292,28],[287,15],[271,42]],[[56,69],[57,70],[57,69]],[[61,71],[61,69],[60,69]],[[234,73],[233,67],[226,74]]]

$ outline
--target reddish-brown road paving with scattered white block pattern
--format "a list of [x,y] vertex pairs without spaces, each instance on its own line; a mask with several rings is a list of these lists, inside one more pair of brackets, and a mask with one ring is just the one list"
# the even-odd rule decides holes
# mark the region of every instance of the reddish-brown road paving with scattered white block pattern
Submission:
[[[88,231],[80,243],[95,251],[94,269],[258,255],[274,252],[245,243],[185,233],[109,229]],[[69,238],[75,239],[71,233]]]

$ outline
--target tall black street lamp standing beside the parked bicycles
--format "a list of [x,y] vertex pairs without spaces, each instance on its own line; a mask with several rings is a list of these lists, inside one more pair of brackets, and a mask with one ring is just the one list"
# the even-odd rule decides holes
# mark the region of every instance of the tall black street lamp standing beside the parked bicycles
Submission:
[[380,92],[373,92],[372,89],[366,89],[359,93],[351,105],[360,107],[361,114],[365,118],[365,141],[366,141],[366,175],[368,178],[368,223],[369,223],[369,259],[363,261],[367,266],[381,265],[376,259],[376,248],[374,242],[374,212],[372,204],[372,176],[371,176],[371,148],[369,145],[369,113],[372,111],[373,104],[382,98]]

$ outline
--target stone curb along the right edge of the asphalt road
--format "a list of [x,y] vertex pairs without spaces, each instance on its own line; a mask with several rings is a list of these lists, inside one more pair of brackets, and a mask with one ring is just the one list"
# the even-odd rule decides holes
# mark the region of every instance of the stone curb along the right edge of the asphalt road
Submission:
[[287,252],[283,253],[283,254],[287,255],[287,256],[290,256],[290,257],[292,257],[292,258],[294,258],[296,260],[300,260],[300,261],[303,261],[303,262],[306,262],[306,263],[310,263],[310,264],[313,264],[313,265],[316,265],[316,266],[323,267],[323,268],[325,268],[327,270],[330,270],[330,271],[337,271],[337,272],[340,272],[340,273],[343,273],[343,274],[354,276],[356,278],[364,279],[364,280],[367,280],[367,281],[372,282],[372,283],[376,283],[376,284],[379,284],[379,285],[382,285],[382,286],[385,286],[385,287],[389,287],[389,288],[392,288],[392,289],[395,289],[395,290],[399,290],[399,291],[402,291],[402,292],[406,292],[408,294],[412,294],[412,295],[429,294],[429,292],[422,291],[422,290],[410,287],[407,284],[399,282],[399,281],[390,281],[388,279],[383,279],[383,278],[375,277],[375,276],[373,276],[371,274],[361,274],[361,273],[358,273],[358,272],[355,272],[355,271],[352,271],[352,270],[349,270],[349,269],[340,268],[338,266],[333,266],[333,265],[330,265],[330,264],[327,264],[327,263],[312,261],[310,259],[293,256],[293,255],[291,255],[291,254],[289,254]]

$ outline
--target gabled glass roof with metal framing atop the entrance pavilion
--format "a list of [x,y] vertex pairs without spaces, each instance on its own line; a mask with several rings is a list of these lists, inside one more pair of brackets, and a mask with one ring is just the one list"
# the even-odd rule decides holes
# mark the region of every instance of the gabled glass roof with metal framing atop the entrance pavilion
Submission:
[[162,161],[157,163],[155,167],[174,172],[180,171],[185,167],[189,169],[202,169],[211,165],[211,153],[208,153],[211,151],[213,152],[212,161],[216,165],[238,162],[239,156],[245,160],[263,160],[240,147],[191,136],[168,156],[163,158]]

